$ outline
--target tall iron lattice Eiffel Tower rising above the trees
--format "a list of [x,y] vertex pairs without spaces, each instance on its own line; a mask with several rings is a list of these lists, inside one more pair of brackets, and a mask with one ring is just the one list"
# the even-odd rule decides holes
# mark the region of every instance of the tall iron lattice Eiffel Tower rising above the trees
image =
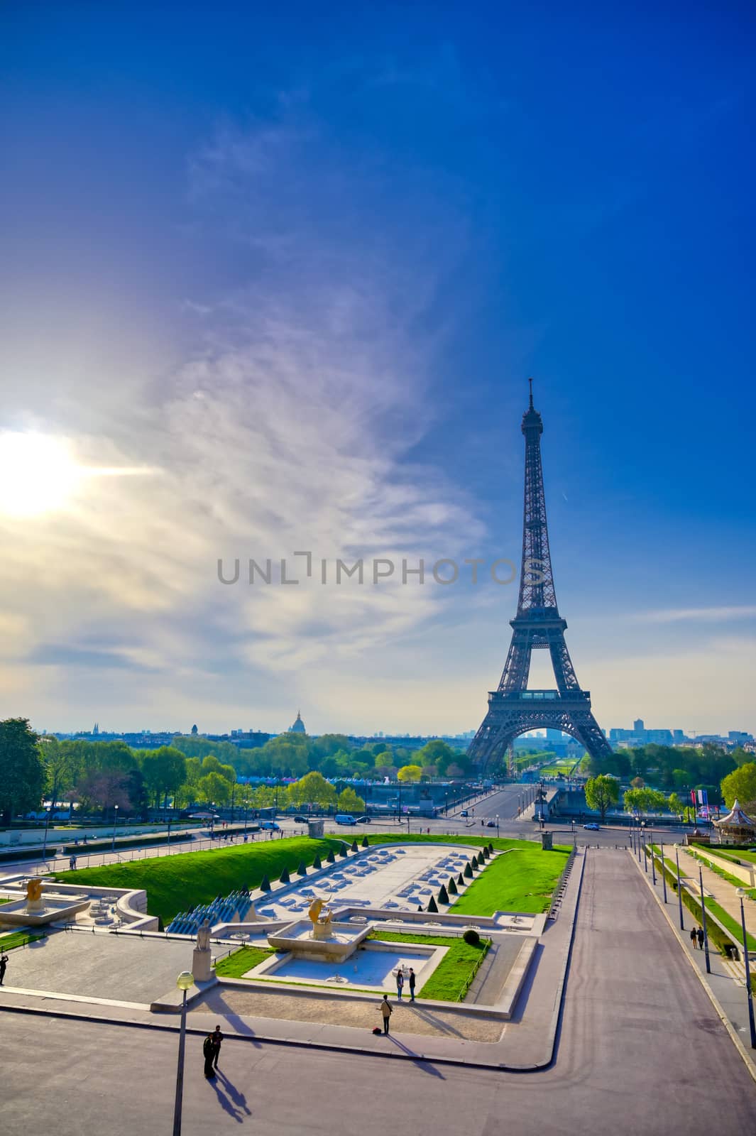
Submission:
[[[570,659],[554,591],[552,558],[548,551],[544,471],[540,463],[540,435],[544,424],[532,404],[522,416],[526,440],[524,518],[522,524],[522,568],[518,613],[510,620],[512,642],[498,688],[488,695],[488,713],[468,749],[468,757],[479,770],[504,759],[515,737],[529,729],[552,727],[570,734],[595,758],[612,752],[590,710],[590,692],[580,688]],[[551,652],[556,690],[529,691],[530,652]]]

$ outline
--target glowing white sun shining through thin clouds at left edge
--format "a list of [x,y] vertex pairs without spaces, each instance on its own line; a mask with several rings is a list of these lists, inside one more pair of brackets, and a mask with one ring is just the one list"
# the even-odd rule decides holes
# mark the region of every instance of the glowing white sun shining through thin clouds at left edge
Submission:
[[0,513],[35,517],[60,509],[83,473],[58,438],[0,433]]

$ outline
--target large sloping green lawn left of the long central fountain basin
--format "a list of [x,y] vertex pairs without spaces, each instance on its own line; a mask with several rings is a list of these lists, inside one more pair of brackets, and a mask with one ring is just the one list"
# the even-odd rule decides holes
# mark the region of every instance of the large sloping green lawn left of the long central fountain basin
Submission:
[[167,926],[179,911],[210,903],[216,896],[228,895],[240,887],[259,887],[263,876],[272,884],[284,868],[295,872],[300,860],[311,864],[319,854],[325,862],[329,850],[337,852],[341,844],[330,837],[314,841],[309,836],[292,836],[210,852],[179,852],[101,868],[79,868],[56,872],[54,878],[76,885],[144,888],[148,912],[159,916]]

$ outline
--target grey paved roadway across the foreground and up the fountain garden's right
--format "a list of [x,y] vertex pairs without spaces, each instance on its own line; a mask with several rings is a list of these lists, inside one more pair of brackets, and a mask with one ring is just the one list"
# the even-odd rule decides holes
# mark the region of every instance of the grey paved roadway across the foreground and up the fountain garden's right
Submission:
[[[215,1025],[215,1022],[212,1022]],[[516,1028],[515,1026],[507,1027]],[[403,1052],[401,1037],[387,1052]],[[171,1130],[176,1035],[3,1014],[2,1130]],[[185,1136],[689,1136],[756,1130],[756,1085],[627,853],[588,853],[554,1066],[537,1074],[187,1042]]]

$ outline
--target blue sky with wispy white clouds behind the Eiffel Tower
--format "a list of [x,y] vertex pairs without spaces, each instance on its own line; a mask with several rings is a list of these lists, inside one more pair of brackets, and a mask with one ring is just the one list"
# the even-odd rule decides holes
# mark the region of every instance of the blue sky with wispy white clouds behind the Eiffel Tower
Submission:
[[516,561],[534,375],[599,722],[756,729],[749,6],[3,22],[3,716],[476,727],[514,585],[216,566]]

